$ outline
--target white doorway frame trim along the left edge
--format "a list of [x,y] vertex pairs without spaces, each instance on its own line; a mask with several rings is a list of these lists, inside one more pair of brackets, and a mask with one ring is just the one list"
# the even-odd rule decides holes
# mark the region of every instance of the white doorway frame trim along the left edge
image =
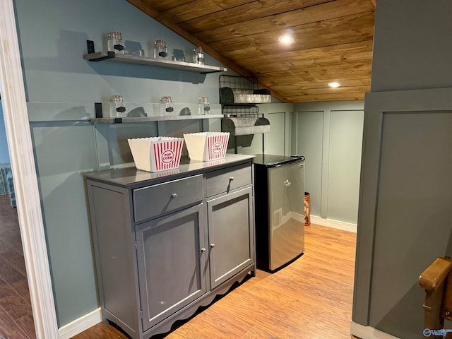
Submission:
[[59,338],[13,0],[0,1],[0,81],[35,331]]

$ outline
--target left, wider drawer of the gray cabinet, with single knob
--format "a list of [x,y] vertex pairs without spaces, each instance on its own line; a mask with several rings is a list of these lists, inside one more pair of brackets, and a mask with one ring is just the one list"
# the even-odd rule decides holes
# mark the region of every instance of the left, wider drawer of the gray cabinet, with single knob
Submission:
[[133,218],[136,222],[203,200],[203,176],[165,182],[133,190]]

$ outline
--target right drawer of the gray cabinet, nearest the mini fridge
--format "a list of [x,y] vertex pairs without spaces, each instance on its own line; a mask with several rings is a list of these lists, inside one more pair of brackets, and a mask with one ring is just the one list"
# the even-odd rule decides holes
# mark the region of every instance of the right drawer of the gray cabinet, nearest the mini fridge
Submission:
[[251,184],[251,164],[238,165],[206,174],[207,196],[215,196]]

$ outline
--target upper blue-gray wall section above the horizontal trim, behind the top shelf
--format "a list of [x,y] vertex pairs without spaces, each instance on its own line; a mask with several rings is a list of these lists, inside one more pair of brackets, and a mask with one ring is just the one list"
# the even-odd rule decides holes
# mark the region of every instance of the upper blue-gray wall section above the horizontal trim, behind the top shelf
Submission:
[[[158,102],[170,95],[174,102],[218,102],[218,74],[201,75],[173,69],[93,63],[82,59],[86,40],[101,50],[103,36],[112,30],[126,42],[141,44],[145,56],[153,40],[167,40],[189,51],[193,44],[121,0],[16,0],[20,50],[30,102],[96,102],[120,94],[126,102]],[[121,19],[118,20],[118,14]],[[206,55],[206,64],[219,65]]]

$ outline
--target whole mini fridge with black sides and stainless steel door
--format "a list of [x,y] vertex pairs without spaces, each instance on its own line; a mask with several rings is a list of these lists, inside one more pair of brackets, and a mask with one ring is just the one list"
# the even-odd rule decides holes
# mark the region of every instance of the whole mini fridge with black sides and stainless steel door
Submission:
[[257,265],[277,270],[304,252],[304,157],[256,155]]

